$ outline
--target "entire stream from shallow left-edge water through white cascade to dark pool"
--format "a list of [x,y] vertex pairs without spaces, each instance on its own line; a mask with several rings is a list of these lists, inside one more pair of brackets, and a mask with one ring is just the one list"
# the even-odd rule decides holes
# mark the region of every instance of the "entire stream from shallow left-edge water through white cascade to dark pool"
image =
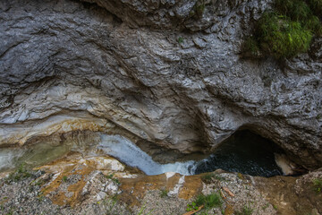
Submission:
[[128,166],[140,168],[147,175],[176,172],[187,176],[211,172],[217,168],[252,176],[281,175],[275,164],[274,154],[269,149],[270,146],[267,142],[260,141],[260,138],[254,139],[251,135],[237,133],[207,159],[159,164],[123,136],[100,134],[100,140],[92,142],[80,140],[60,144],[41,142],[19,149],[0,149],[0,171],[18,167],[22,162],[32,167],[44,165],[74,150],[91,156],[108,154]]

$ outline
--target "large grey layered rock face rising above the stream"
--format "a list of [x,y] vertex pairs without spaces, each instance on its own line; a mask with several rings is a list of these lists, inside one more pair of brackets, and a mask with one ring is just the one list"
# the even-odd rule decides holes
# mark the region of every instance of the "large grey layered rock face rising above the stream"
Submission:
[[117,125],[186,153],[248,128],[321,167],[322,40],[283,66],[240,56],[269,4],[1,1],[0,144]]

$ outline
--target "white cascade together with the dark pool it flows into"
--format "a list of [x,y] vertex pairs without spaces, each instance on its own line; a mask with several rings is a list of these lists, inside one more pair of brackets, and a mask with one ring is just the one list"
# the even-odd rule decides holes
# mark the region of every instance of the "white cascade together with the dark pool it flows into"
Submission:
[[140,168],[147,175],[177,172],[185,176],[212,172],[217,168],[250,176],[282,175],[275,163],[270,142],[249,132],[235,133],[207,159],[159,164],[120,135],[101,135],[99,148],[128,166]]

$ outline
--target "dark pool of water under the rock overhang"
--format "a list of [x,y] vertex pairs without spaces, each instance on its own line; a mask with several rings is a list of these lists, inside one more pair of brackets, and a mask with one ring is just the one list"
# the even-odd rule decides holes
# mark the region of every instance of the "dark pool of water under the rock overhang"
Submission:
[[273,142],[250,131],[234,133],[208,159],[200,160],[195,174],[222,168],[250,176],[282,175],[275,163]]

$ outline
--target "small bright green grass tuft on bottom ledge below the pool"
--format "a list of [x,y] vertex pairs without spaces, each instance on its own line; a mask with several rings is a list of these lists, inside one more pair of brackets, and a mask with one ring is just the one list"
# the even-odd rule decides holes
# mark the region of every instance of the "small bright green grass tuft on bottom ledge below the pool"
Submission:
[[187,205],[187,211],[197,210],[201,205],[204,205],[206,210],[221,207],[223,200],[219,193],[210,193],[208,195],[199,194],[195,202]]

